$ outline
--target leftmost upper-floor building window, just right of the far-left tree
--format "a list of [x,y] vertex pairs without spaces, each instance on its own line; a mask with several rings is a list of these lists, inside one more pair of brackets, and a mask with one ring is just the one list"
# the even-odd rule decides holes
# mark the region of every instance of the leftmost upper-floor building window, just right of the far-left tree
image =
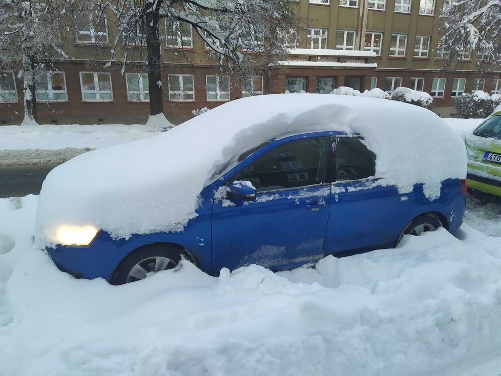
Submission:
[[73,17],[76,27],[76,43],[108,43],[108,19],[104,12],[101,13],[97,23],[89,12],[77,10],[73,13]]

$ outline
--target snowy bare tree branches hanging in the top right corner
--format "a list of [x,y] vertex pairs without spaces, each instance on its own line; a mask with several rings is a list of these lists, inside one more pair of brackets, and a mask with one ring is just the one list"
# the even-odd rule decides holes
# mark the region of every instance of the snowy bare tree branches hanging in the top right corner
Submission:
[[440,15],[442,41],[439,53],[450,66],[476,54],[480,70],[491,70],[501,60],[501,2],[449,0]]

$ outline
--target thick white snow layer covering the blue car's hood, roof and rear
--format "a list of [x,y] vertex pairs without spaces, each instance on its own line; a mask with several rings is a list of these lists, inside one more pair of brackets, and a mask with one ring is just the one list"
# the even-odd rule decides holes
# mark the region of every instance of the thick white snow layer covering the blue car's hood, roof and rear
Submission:
[[358,132],[377,155],[376,175],[401,191],[465,178],[461,138],[434,113],[406,103],[324,94],[275,94],[228,102],[158,136],[79,155],[42,186],[37,238],[62,224],[93,225],[121,238],[182,231],[218,166],[284,134]]

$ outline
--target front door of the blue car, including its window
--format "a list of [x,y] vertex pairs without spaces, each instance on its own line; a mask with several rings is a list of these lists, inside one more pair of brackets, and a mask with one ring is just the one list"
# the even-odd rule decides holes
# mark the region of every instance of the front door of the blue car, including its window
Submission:
[[257,192],[254,201],[214,200],[215,273],[253,263],[282,269],[323,257],[330,148],[329,137],[291,140],[255,158],[227,181],[249,181]]

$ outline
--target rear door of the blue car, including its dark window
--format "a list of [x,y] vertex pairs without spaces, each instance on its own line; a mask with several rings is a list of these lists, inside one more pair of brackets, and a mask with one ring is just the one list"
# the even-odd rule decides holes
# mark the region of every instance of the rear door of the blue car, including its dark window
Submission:
[[[413,193],[375,177],[376,156],[360,137],[335,137],[336,179],[332,183],[325,253],[343,256],[392,247],[406,225]],[[398,163],[398,160],[395,161]]]

